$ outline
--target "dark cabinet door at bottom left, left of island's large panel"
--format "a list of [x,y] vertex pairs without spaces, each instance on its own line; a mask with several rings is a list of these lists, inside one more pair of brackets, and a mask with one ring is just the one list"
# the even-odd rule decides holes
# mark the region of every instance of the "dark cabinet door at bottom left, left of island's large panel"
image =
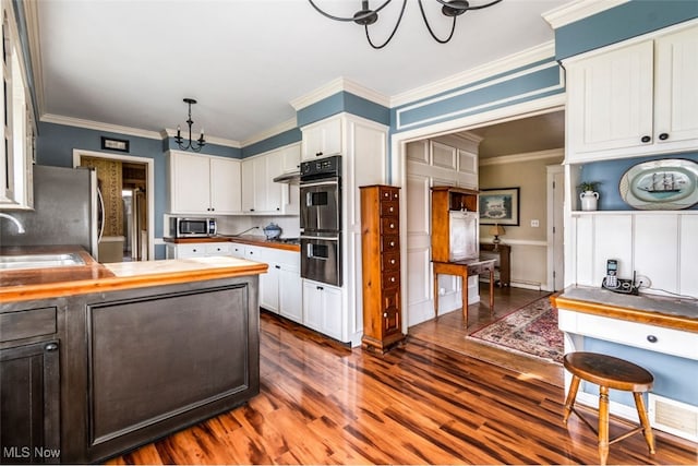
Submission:
[[58,342],[0,350],[0,463],[60,462]]

